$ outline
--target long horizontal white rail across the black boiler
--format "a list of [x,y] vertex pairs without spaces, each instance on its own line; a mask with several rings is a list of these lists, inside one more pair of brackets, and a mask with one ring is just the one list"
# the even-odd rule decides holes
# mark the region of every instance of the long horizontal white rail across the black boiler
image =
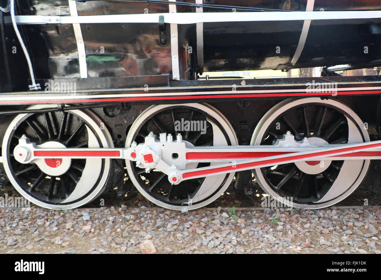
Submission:
[[[70,0],[72,1],[72,0]],[[242,13],[157,13],[109,14],[100,16],[16,16],[19,24],[74,24],[74,23],[158,23],[194,24],[199,22],[234,21],[305,21],[327,19],[376,19],[381,11],[311,11],[311,12],[242,12]]]

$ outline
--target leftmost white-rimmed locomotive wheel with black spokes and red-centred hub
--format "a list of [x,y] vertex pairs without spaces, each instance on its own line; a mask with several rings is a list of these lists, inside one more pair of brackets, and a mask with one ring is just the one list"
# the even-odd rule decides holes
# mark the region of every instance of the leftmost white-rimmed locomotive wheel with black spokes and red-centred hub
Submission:
[[[51,107],[55,106],[28,109]],[[22,196],[44,208],[71,209],[91,202],[104,190],[109,159],[45,159],[46,168],[40,170],[34,163],[17,162],[13,149],[23,134],[42,147],[114,147],[109,132],[101,128],[101,120],[90,110],[17,115],[5,132],[2,146],[10,182]]]

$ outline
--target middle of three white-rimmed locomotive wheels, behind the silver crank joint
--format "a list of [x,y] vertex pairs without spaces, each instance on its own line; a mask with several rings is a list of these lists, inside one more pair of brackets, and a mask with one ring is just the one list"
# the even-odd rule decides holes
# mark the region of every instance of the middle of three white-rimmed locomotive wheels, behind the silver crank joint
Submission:
[[[206,133],[201,131],[175,131],[175,122],[200,121],[207,124]],[[210,121],[208,121],[210,120]],[[191,146],[237,145],[235,133],[226,118],[208,104],[175,104],[150,106],[131,125],[126,139],[126,147],[133,141],[144,142],[144,137],[153,131],[171,133],[174,137],[182,134],[182,139]],[[208,205],[227,189],[234,173],[221,174],[206,178],[191,179],[172,185],[168,176],[158,170],[145,173],[126,161],[129,178],[134,186],[151,202],[171,210],[192,210]],[[216,165],[220,163],[190,163],[186,169]]]

